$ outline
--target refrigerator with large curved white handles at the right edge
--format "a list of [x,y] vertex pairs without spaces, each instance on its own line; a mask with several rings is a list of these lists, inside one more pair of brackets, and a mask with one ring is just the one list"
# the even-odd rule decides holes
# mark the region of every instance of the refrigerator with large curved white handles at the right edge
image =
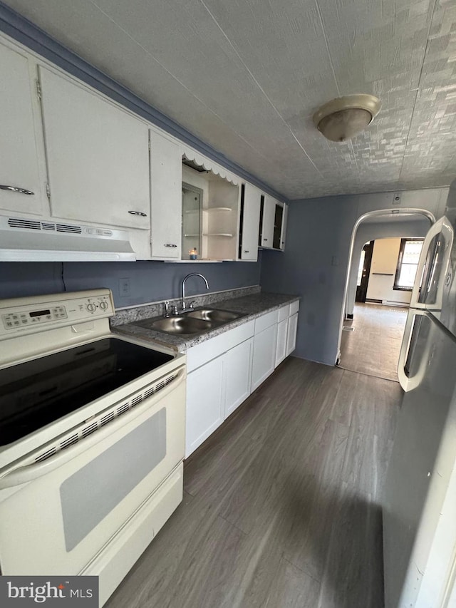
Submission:
[[383,495],[385,608],[456,608],[456,181],[423,243]]

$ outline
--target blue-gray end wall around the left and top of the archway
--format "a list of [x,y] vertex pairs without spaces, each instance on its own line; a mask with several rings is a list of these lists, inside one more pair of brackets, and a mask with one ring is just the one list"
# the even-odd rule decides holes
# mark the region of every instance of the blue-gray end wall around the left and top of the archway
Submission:
[[441,217],[447,188],[293,201],[284,254],[263,251],[261,288],[301,296],[296,355],[334,365],[353,227],[361,215],[415,207]]

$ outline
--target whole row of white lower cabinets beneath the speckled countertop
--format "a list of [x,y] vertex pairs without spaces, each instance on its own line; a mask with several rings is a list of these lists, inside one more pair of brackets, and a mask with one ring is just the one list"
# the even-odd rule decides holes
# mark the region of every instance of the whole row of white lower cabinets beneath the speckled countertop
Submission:
[[294,350],[298,310],[286,304],[188,349],[185,458]]

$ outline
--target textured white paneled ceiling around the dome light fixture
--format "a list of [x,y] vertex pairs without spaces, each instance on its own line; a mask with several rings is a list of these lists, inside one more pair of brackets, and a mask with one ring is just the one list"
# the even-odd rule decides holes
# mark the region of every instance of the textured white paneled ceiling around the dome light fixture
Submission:
[[[4,0],[289,199],[449,185],[455,0]],[[319,105],[373,93],[347,143]]]

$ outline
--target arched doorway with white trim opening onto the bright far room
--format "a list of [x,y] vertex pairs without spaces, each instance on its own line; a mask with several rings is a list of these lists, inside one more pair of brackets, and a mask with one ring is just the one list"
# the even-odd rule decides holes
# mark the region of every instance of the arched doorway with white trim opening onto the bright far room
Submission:
[[341,319],[341,368],[398,381],[419,248],[434,221],[428,212],[409,209],[369,212],[356,222]]

